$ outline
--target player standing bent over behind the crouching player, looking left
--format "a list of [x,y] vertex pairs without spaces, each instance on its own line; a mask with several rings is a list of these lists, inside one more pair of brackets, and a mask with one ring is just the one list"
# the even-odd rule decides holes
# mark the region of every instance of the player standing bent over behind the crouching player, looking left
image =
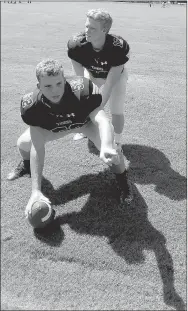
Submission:
[[[121,143],[130,47],[122,37],[109,34],[111,26],[108,12],[89,10],[85,31],[68,41],[68,56],[76,75],[88,77],[101,88],[102,105],[109,102],[115,140]],[[74,139],[82,137],[77,134]]]

